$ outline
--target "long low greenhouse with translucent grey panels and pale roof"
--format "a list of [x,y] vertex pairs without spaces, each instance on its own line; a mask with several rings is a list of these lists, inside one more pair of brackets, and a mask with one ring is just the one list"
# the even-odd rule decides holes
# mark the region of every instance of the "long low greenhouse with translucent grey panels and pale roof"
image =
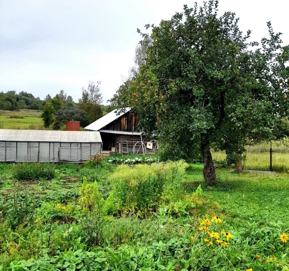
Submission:
[[100,153],[99,132],[0,129],[0,161],[82,162]]

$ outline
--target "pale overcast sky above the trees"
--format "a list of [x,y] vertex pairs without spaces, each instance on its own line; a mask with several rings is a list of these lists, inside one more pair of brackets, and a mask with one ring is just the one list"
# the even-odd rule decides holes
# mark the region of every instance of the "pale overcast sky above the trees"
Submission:
[[[74,101],[89,80],[101,81],[104,104],[133,66],[146,23],[158,24],[195,1],[0,0],[0,91],[44,99],[61,89]],[[203,1],[198,1],[202,4]],[[271,20],[289,44],[289,1],[219,0],[219,14],[236,12],[252,39],[267,35]]]

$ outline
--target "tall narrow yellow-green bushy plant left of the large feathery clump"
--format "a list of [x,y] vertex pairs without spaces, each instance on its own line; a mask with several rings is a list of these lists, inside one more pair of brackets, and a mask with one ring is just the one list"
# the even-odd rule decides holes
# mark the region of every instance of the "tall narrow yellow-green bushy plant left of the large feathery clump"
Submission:
[[79,188],[79,204],[82,209],[80,222],[85,240],[90,246],[98,245],[102,239],[104,223],[104,199],[98,191],[97,182],[83,181]]

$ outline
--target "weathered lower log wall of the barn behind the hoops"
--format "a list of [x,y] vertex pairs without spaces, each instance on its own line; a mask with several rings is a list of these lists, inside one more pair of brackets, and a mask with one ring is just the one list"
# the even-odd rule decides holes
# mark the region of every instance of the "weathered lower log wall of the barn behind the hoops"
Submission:
[[[142,141],[144,142],[145,146],[147,145],[147,142],[150,142],[151,140],[153,140],[153,138],[142,136]],[[132,148],[135,145],[135,143],[138,142],[138,141],[141,141],[141,136],[118,135],[116,137],[116,144],[115,144],[116,152],[119,152],[119,145],[121,144],[121,141],[123,141],[123,145],[125,145],[125,146],[126,146],[126,141],[127,141],[128,152],[132,152]],[[147,154],[154,154],[155,145],[156,145],[156,143],[153,142],[153,148],[152,149],[146,148]],[[141,146],[141,144],[138,144],[137,146],[138,147],[135,148],[136,151]],[[142,147],[141,147],[139,152],[138,152],[138,154],[142,154],[142,153],[143,152],[142,152]]]

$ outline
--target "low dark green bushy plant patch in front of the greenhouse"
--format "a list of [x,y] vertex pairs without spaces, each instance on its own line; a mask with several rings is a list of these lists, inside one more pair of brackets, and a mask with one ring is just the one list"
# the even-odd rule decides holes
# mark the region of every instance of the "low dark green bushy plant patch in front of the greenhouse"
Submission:
[[55,166],[48,163],[17,163],[14,166],[14,178],[17,180],[51,180]]

